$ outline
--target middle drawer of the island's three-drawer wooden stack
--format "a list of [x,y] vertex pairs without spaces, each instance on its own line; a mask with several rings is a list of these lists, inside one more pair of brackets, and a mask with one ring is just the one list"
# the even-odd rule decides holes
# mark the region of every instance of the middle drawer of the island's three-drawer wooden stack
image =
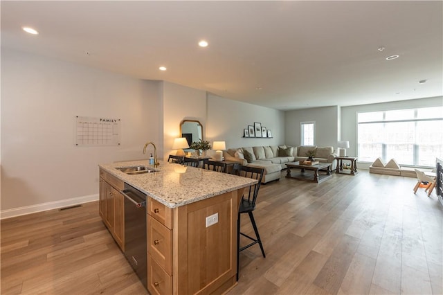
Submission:
[[172,274],[172,231],[147,215],[147,253]]

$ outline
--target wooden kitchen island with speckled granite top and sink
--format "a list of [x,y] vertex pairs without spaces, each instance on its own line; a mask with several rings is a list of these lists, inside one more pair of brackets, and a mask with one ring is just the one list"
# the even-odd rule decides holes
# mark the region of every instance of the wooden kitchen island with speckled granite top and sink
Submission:
[[120,192],[126,183],[147,195],[150,293],[221,294],[233,287],[238,202],[244,188],[257,181],[164,162],[150,173],[128,175],[116,169],[130,166],[149,167],[148,161],[99,165],[99,211],[125,251],[125,208]]

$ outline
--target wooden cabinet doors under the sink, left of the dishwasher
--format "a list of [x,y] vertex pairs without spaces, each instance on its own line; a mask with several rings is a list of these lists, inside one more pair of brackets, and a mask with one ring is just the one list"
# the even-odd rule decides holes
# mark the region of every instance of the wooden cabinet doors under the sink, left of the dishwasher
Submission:
[[122,251],[125,251],[125,197],[120,190],[124,186],[123,181],[100,169],[98,211]]

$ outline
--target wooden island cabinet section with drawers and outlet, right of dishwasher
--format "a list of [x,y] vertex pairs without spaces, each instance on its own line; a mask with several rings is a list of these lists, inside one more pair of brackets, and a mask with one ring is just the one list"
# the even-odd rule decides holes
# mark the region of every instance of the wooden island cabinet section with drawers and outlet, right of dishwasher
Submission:
[[[221,294],[235,285],[237,199],[224,193],[171,209],[147,198],[147,287],[151,294]],[[218,222],[206,226],[206,217]]]

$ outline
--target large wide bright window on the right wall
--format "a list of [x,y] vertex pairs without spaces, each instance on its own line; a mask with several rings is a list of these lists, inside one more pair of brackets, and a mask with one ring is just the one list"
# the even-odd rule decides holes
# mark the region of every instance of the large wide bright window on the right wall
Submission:
[[360,161],[378,157],[403,166],[435,166],[443,156],[443,107],[357,114]]

